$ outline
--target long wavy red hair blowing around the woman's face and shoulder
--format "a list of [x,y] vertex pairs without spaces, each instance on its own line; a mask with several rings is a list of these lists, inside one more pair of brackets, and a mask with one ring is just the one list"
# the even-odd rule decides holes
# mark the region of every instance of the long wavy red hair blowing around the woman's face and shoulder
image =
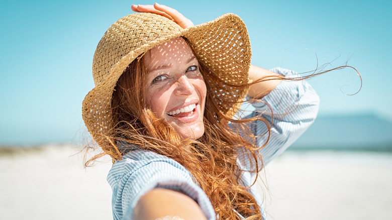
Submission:
[[[221,80],[206,66],[199,62],[205,81]],[[183,139],[174,129],[159,119],[147,107],[144,89],[147,69],[144,58],[135,59],[117,82],[112,98],[113,128],[107,137],[112,146],[103,148],[103,153],[95,155],[86,164],[103,156],[110,155],[113,160],[121,160],[132,146],[167,156],[184,166],[193,176],[213,204],[220,219],[261,219],[260,207],[248,187],[243,186],[237,157],[246,157],[257,176],[262,168],[255,136],[247,139],[245,123],[265,119],[253,118],[235,120],[225,116],[219,109],[213,92],[207,83],[207,97],[204,114],[205,133],[197,140]],[[244,89],[250,84],[230,85]],[[230,128],[228,122],[234,126]],[[266,134],[268,135],[268,134]],[[122,144],[118,144],[122,142]],[[126,143],[126,144],[124,144]],[[127,148],[128,146],[128,148]],[[261,146],[264,147],[264,146]]]

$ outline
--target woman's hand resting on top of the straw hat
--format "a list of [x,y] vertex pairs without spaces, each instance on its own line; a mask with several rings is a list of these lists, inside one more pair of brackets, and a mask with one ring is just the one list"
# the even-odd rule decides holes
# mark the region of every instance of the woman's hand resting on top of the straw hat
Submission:
[[155,3],[154,5],[132,5],[131,9],[134,12],[149,12],[164,16],[177,23],[183,29],[194,26],[192,21],[185,18],[185,16],[177,10],[164,5],[159,5],[158,3]]

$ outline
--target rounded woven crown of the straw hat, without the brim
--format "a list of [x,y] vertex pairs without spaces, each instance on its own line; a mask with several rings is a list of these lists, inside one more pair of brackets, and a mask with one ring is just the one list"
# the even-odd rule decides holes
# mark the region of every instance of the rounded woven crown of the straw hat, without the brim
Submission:
[[119,19],[105,32],[96,47],[92,61],[95,85],[100,84],[112,67],[127,54],[181,30],[173,21],[151,13],[136,13]]

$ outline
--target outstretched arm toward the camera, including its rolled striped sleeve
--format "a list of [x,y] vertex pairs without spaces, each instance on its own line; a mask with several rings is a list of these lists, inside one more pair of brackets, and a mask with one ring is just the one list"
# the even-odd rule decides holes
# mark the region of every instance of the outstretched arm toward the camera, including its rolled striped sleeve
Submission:
[[124,155],[109,171],[108,182],[114,219],[216,219],[210,199],[189,171],[154,152],[139,149]]

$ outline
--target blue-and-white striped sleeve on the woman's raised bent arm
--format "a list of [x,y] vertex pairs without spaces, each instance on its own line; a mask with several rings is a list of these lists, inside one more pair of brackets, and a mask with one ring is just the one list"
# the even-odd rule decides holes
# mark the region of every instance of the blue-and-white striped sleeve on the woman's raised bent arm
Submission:
[[[296,72],[283,68],[271,71],[288,78],[299,76]],[[271,125],[269,141],[260,149],[264,165],[280,155],[309,128],[316,119],[319,102],[319,96],[306,80],[282,80],[261,101],[241,107],[241,115],[238,117],[249,118],[261,114],[267,124]],[[249,123],[248,127],[258,136],[258,146],[264,145],[268,139],[266,124],[257,121]]]

